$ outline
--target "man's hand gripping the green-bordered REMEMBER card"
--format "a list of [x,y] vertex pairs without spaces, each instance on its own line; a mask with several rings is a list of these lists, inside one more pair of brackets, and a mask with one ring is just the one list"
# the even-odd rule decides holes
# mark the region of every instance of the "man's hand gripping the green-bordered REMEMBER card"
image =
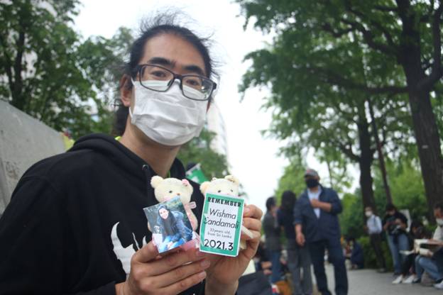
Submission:
[[245,206],[243,225],[251,230],[253,238],[244,233],[241,239],[246,240],[246,249],[241,250],[237,257],[209,255],[211,267],[207,269],[206,294],[234,294],[239,277],[256,255],[260,243],[261,216],[263,212],[254,205]]

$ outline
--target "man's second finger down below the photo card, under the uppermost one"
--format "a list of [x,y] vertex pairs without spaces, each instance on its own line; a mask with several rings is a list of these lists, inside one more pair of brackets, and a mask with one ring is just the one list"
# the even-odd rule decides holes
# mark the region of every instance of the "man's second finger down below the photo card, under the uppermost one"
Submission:
[[211,265],[211,262],[209,262],[208,259],[199,260],[187,265],[182,265],[181,267],[177,267],[169,272],[152,277],[151,279],[155,282],[155,289],[160,289],[175,284],[176,282],[180,282],[187,277],[199,274],[207,269],[209,265]]

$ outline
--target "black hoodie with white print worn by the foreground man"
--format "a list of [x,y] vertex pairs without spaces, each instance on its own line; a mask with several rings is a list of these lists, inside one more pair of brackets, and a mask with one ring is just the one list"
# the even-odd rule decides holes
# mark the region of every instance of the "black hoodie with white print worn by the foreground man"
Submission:
[[[0,219],[0,294],[115,294],[151,240],[143,208],[155,175],[108,135],[88,135],[23,175]],[[185,178],[175,160],[170,177]],[[192,201],[201,218],[198,184]],[[197,284],[185,294],[203,294]]]

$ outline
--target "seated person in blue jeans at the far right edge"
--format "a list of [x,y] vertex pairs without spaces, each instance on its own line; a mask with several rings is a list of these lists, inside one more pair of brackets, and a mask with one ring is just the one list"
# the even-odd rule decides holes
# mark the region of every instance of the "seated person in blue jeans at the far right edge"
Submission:
[[[437,228],[435,228],[434,235],[430,241],[441,243],[443,241],[443,202],[434,205],[434,217],[435,221],[437,221]],[[415,257],[415,272],[417,272],[415,282],[420,282],[423,272],[427,272],[435,280],[436,284],[434,286],[437,289],[443,289],[443,272],[441,272],[441,267],[437,265],[437,260],[433,256],[434,252],[427,250],[420,251],[420,255]]]

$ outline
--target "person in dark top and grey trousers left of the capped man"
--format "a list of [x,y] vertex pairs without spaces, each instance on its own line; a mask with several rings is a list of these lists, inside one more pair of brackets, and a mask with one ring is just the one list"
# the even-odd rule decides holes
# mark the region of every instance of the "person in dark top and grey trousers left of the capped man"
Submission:
[[[277,211],[278,224],[283,227],[288,251],[288,269],[292,277],[295,295],[312,294],[311,260],[306,245],[295,241],[294,215],[296,196],[292,191],[284,191],[281,206]],[[302,271],[300,273],[300,271]],[[301,275],[302,274],[302,275]]]

